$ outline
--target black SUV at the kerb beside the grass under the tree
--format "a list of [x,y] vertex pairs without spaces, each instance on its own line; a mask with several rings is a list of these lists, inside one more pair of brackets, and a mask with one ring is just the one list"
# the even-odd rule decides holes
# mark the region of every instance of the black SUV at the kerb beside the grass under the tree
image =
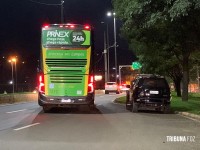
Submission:
[[170,88],[164,77],[140,74],[127,92],[126,109],[137,112],[140,108],[148,108],[169,113],[170,100]]

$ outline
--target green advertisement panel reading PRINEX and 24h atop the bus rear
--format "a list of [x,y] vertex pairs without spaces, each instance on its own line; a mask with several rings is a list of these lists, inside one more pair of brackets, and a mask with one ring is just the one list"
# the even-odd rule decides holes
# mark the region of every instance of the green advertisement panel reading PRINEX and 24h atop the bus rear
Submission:
[[42,30],[42,45],[90,45],[90,31],[68,29]]

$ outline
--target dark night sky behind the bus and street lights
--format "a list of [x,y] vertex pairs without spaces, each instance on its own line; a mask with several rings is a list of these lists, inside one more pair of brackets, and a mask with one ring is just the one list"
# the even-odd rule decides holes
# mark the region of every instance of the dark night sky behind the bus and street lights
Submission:
[[[40,3],[59,4],[60,0],[33,0]],[[30,78],[36,73],[40,54],[40,31],[45,23],[60,23],[60,6],[42,5],[32,0],[4,0],[0,5],[0,69],[4,74],[9,72],[7,59],[18,56],[18,76]],[[112,10],[111,0],[65,0],[64,17],[66,23],[90,24],[94,27],[94,47],[97,58],[103,52],[103,32],[108,24],[109,42],[113,44],[113,18],[106,12]],[[118,64],[130,65],[134,61],[133,53],[128,50],[127,43],[119,37],[120,21],[117,20]],[[114,66],[114,49],[110,50],[110,63]],[[4,56],[4,58],[3,58]],[[25,64],[21,64],[25,62]],[[103,58],[97,64],[103,70]],[[24,71],[23,71],[24,68]],[[26,68],[26,69],[25,69]],[[22,69],[22,70],[20,70]],[[24,74],[21,72],[25,72]],[[9,75],[8,75],[9,76]],[[1,83],[8,77],[1,77]],[[21,80],[21,81],[20,81]],[[19,82],[25,79],[19,78]],[[30,81],[31,82],[31,81]]]

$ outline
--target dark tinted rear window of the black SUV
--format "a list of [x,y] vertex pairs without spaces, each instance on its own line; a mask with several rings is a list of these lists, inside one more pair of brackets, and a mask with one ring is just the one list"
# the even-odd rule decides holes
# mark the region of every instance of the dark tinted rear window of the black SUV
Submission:
[[168,84],[165,79],[162,78],[146,78],[140,83],[146,88],[168,88]]

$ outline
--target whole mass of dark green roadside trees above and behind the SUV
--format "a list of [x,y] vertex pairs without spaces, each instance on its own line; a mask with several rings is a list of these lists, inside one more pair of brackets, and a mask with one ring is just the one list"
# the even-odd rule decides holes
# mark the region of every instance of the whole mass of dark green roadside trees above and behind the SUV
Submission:
[[200,1],[113,0],[113,6],[141,73],[170,77],[177,95],[188,101],[191,72],[200,66]]

